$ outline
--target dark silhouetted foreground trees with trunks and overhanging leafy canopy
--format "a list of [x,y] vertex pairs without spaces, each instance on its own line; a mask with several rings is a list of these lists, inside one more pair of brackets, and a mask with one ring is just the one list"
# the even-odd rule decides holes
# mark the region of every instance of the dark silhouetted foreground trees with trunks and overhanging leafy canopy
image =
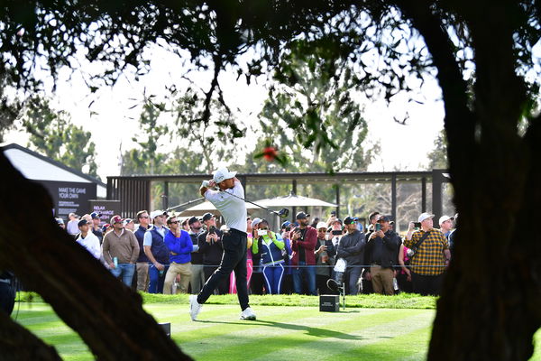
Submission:
[[[55,75],[69,65],[78,47],[84,47],[87,60],[104,60],[107,67],[98,77],[88,78],[89,86],[96,88],[114,83],[131,66],[144,71],[148,62],[142,51],[149,44],[165,42],[188,50],[197,64],[213,60],[215,77],[199,119],[208,122],[211,101],[223,101],[218,74],[237,65],[237,57],[255,45],[260,58],[247,69],[236,68],[247,79],[280,64],[289,44],[299,38],[315,48],[346,51],[357,64],[364,91],[374,97],[392,100],[400,90],[417,88],[412,79],[436,75],[445,102],[447,152],[461,231],[438,301],[428,358],[527,359],[533,351],[532,336],[541,325],[541,236],[531,229],[531,220],[541,213],[541,169],[536,161],[541,153],[541,119],[532,101],[540,79],[532,52],[540,37],[540,4],[538,0],[7,1],[0,7],[0,80],[13,88],[39,90],[41,83],[29,66],[36,56],[45,58]],[[329,36],[340,42],[326,42]],[[379,56],[377,67],[367,63],[364,55],[370,51]],[[326,134],[316,127],[307,136],[326,143]],[[0,159],[4,226],[0,267],[13,268],[40,292],[96,356],[128,358],[124,351],[129,350],[132,358],[138,353],[138,358],[159,358],[149,353],[152,349],[170,350],[169,357],[180,357],[142,312],[141,301],[60,236],[52,219],[36,221],[39,236],[25,232],[20,220],[28,209],[45,215],[50,205],[44,190],[23,180],[3,156]],[[19,190],[16,198],[14,190]],[[74,260],[80,260],[77,268]],[[99,286],[92,281],[98,279],[104,280]],[[92,286],[83,288],[81,282]],[[87,309],[78,301],[94,307],[92,319],[84,317]],[[119,319],[121,315],[132,316]],[[111,348],[105,336],[112,335],[117,342]],[[146,342],[135,341],[143,339]]]

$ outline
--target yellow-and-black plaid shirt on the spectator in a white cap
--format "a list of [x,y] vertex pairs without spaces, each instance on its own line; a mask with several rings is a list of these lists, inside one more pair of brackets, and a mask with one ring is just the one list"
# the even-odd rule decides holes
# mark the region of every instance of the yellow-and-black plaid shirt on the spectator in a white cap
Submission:
[[[449,249],[449,243],[438,229],[432,228],[428,232],[430,233],[417,249],[410,265],[411,270],[417,274],[436,276],[445,272],[444,250]],[[411,239],[404,240],[404,245],[408,248],[413,247],[423,235],[425,235],[423,230],[414,232]]]

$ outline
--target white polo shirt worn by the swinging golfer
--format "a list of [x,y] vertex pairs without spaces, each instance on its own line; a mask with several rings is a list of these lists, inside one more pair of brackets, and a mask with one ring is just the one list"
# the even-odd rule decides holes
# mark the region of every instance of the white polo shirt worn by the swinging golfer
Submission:
[[205,198],[214,204],[215,208],[224,216],[227,227],[246,233],[246,203],[243,199],[238,199],[226,193],[244,198],[243,185],[240,181],[235,181],[234,188],[230,190],[206,190]]

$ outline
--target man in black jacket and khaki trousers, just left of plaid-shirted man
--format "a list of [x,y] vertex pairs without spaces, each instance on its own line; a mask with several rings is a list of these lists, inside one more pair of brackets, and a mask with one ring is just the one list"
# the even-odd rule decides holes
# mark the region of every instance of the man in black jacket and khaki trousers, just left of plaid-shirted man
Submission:
[[364,259],[370,268],[365,271],[364,277],[371,281],[374,292],[392,295],[395,276],[393,266],[398,264],[401,239],[390,229],[390,218],[383,215],[377,216],[374,230],[366,238]]

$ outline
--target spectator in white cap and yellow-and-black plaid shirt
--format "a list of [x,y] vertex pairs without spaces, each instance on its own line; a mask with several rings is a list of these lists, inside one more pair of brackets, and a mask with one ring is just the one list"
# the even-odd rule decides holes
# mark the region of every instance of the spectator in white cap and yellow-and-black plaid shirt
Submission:
[[[411,282],[413,292],[438,295],[445,267],[451,260],[449,243],[444,234],[434,228],[434,215],[422,213],[418,222],[409,222],[404,245],[410,248]],[[414,229],[417,228],[414,232]]]

